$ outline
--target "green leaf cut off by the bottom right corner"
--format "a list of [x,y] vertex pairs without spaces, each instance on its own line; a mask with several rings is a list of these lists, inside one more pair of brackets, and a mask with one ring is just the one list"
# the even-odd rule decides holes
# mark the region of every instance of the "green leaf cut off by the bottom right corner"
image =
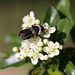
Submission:
[[75,66],[73,65],[73,63],[71,61],[68,62],[66,68],[65,68],[65,72],[68,75],[75,75]]

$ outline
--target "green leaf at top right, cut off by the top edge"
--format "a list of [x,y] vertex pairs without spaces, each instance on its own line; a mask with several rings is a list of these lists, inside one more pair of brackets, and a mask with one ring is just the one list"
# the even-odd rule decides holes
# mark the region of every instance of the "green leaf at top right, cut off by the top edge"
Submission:
[[57,9],[60,13],[62,13],[69,19],[72,26],[75,24],[73,16],[70,12],[70,1],[69,0],[60,0],[60,2],[57,5]]

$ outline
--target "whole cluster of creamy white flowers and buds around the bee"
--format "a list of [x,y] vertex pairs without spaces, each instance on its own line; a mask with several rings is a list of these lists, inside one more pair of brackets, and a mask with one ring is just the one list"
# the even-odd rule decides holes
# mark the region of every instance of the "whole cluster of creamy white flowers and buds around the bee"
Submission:
[[[39,25],[40,20],[34,17],[34,12],[30,12],[30,15],[27,15],[23,18],[24,24],[22,25],[23,29],[31,27],[34,25]],[[52,33],[55,32],[55,27],[50,27],[47,23],[42,24],[44,27],[43,38],[41,37],[31,37],[25,39],[21,43],[21,47],[14,47],[13,51],[17,52],[16,57],[24,60],[26,57],[31,59],[31,63],[36,65],[38,60],[48,60],[54,56],[59,55],[59,43],[49,40],[49,37]]]

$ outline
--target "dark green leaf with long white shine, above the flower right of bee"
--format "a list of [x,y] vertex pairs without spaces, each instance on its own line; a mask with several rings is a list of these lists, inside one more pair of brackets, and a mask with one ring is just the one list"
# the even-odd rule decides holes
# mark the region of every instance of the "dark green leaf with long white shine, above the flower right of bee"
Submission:
[[54,7],[49,7],[43,23],[47,22],[50,26],[55,26],[59,18],[58,12]]

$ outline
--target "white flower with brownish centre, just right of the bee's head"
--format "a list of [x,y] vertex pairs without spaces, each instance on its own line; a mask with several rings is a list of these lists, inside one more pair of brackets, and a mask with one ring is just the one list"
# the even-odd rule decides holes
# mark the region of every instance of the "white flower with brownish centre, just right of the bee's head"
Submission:
[[43,26],[44,26],[44,33],[45,33],[43,36],[45,38],[49,38],[50,34],[54,33],[56,30],[55,27],[50,27],[47,23],[44,23]]

